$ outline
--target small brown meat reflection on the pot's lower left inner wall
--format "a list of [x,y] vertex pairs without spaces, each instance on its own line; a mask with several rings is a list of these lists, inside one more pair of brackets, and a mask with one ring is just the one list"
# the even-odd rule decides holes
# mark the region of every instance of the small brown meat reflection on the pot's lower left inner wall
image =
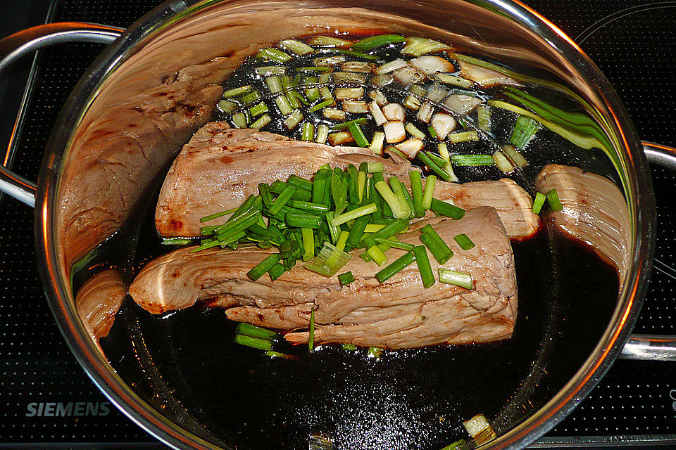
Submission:
[[114,269],[92,276],[77,291],[77,312],[92,339],[98,341],[108,335],[126,296],[127,285]]

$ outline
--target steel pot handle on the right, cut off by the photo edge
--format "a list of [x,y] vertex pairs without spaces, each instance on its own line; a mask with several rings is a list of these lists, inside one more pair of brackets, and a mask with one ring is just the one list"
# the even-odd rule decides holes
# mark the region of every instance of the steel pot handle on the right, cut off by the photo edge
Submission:
[[[643,142],[643,150],[651,164],[676,170],[676,148]],[[676,335],[631,335],[620,358],[676,361]]]

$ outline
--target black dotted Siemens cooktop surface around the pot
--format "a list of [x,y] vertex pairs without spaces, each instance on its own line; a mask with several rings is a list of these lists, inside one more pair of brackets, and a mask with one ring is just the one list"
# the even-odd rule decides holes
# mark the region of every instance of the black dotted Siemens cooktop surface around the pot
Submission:
[[[63,0],[54,20],[127,26],[157,3]],[[582,48],[618,90],[643,139],[676,145],[676,113],[671,105],[676,73],[676,60],[671,56],[676,44],[675,2],[538,0],[528,4],[571,37],[582,34]],[[607,17],[606,22],[597,23]],[[80,44],[43,53],[15,166],[21,174],[37,178],[39,158],[58,109],[100,50],[100,46]],[[675,177],[653,168],[653,178],[658,203],[657,261],[636,332],[676,334]],[[0,446],[154,442],[106,404],[75,363],[44,300],[36,264],[32,211],[6,200],[0,205]],[[676,365],[618,361],[592,394],[541,442],[558,446],[571,438],[590,437],[582,440],[594,444],[613,436],[652,435],[658,442],[676,446],[676,440],[670,441],[676,435],[675,397]],[[58,409],[58,402],[63,404],[62,411],[73,402],[71,415],[49,416],[48,412]],[[84,403],[80,408],[85,414],[90,403],[88,415],[75,415],[77,402]]]

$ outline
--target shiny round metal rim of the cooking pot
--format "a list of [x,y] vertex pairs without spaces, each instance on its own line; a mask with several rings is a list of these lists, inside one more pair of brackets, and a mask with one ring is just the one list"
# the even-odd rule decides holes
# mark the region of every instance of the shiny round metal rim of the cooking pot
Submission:
[[[518,0],[463,0],[506,15],[515,23],[536,33],[558,53],[570,61],[594,94],[602,101],[608,113],[613,117],[613,127],[627,151],[631,162],[627,165],[627,178],[634,180],[629,184],[627,198],[634,200],[636,213],[636,233],[634,235],[634,253],[632,265],[627,273],[622,293],[618,299],[613,319],[609,323],[599,344],[584,362],[574,377],[544,406],[529,418],[503,435],[480,448],[517,449],[530,444],[551,430],[570,413],[584,397],[589,394],[620,353],[639,315],[641,304],[647,289],[647,281],[652,265],[656,213],[652,181],[637,133],[620,98],[582,49],[570,37],[558,29],[532,8]],[[87,69],[73,92],[87,93],[87,97],[71,94],[58,116],[56,126],[46,146],[42,161],[35,203],[35,240],[37,258],[42,275],[42,283],[49,306],[63,337],[78,363],[94,384],[108,399],[134,423],[151,435],[174,448],[189,446],[194,449],[219,449],[168,420],[152,406],[135,394],[115,373],[111,364],[96,347],[82,326],[80,316],[70,297],[70,288],[59,277],[54,229],[54,214],[49,214],[56,205],[58,191],[58,169],[61,165],[63,149],[66,148],[70,131],[77,123],[80,112],[86,108],[91,93],[96,91],[106,74],[118,63],[121,56],[130,51],[137,41],[153,32],[176,15],[208,6],[213,0],[185,0],[181,2],[165,1],[131,25],[122,37],[108,46],[99,58]]]

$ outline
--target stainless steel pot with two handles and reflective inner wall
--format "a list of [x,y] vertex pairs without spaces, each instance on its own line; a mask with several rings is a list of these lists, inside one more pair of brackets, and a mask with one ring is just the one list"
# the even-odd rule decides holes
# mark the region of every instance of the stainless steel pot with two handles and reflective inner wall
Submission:
[[[248,46],[337,27],[424,32],[460,42],[515,68],[546,72],[579,96],[614,145],[618,176],[632,215],[633,247],[632,265],[613,317],[575,376],[538,411],[482,448],[520,448],[544,435],[592,390],[620,354],[626,358],[676,360],[676,338],[630,336],[646,292],[656,226],[646,159],[676,168],[676,150],[641,143],[620,99],[596,65],[541,15],[518,2],[503,0],[416,4],[388,0],[368,5],[359,1],[168,1],[127,30],[52,24],[0,41],[0,57],[4,57],[0,71],[15,58],[46,45],[69,41],[110,44],[63,107],[46,148],[39,184],[0,167],[0,190],[35,205],[40,270],[58,326],[89,377],[121,411],[176,448],[217,448],[187,432],[180,420],[168,419],[140,398],[113,371],[75,309],[69,281],[73,262],[115,233],[133,214],[133,205],[144,188],[163,173],[173,152],[194,131],[194,127],[171,129],[168,125],[161,131],[175,134],[159,136],[144,128],[149,120],[143,115],[127,123],[127,117],[120,119],[118,113],[134,105],[137,109],[139,105],[145,110],[158,108],[148,93],[161,93],[163,83],[180,77],[180,68],[227,55],[232,65],[216,76],[224,77],[229,67],[248,54]],[[202,113],[206,116],[208,112]],[[110,122],[113,126],[106,128]],[[128,127],[132,126],[142,131],[130,134]],[[111,152],[101,144],[101,130],[109,131],[105,138],[116,140],[113,148],[118,150]],[[138,158],[139,153],[144,155],[139,167],[114,176],[106,172],[105,168],[115,166],[116,160]],[[102,177],[119,189],[118,198],[111,200],[115,194],[110,191],[88,190]],[[104,207],[92,214],[92,205]]]

